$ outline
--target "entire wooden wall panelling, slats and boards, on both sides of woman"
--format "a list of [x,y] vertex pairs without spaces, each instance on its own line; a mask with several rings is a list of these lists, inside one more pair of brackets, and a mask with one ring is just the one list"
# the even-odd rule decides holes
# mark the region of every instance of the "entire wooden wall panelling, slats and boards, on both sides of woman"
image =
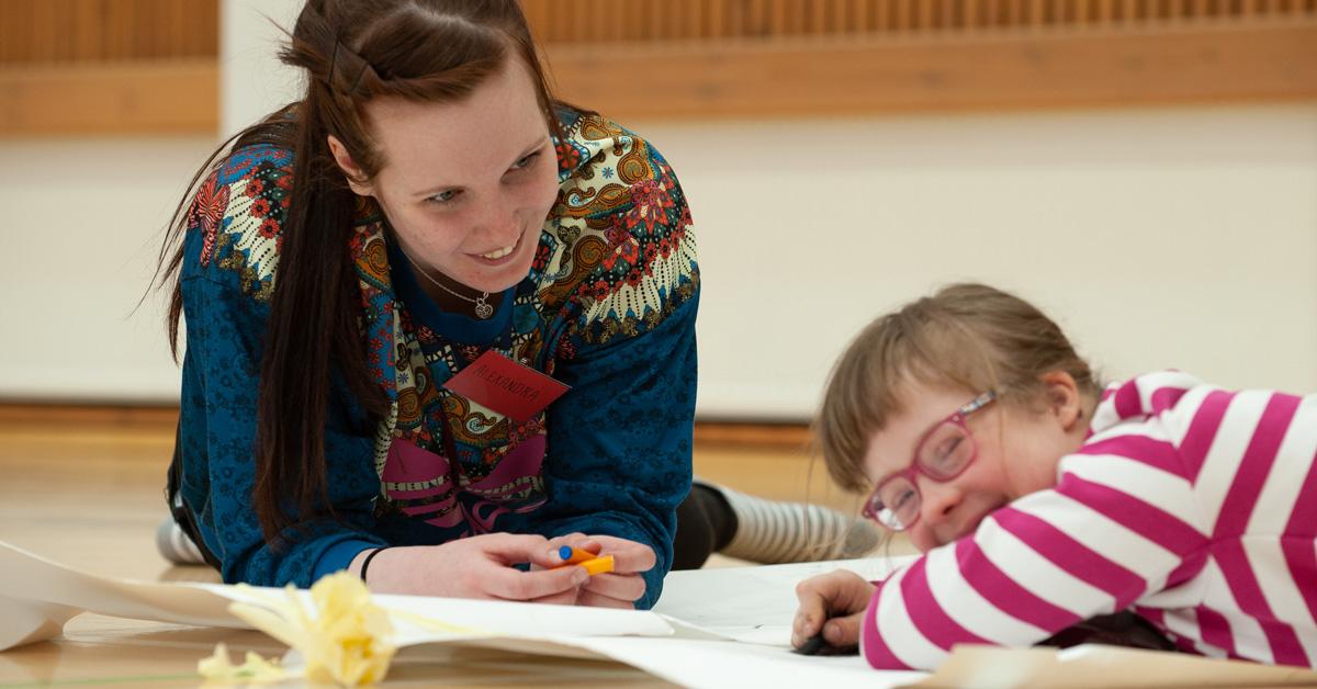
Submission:
[[[523,7],[560,95],[622,119],[1317,97],[1317,0]],[[0,0],[0,137],[211,133],[217,49],[219,0]]]

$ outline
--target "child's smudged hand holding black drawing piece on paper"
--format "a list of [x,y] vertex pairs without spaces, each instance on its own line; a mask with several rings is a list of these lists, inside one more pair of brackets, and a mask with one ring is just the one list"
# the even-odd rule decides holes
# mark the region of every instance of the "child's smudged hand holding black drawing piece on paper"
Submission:
[[846,569],[797,584],[795,597],[801,607],[792,623],[792,646],[801,648],[820,628],[823,640],[834,648],[857,646],[864,609],[874,589],[873,584]]

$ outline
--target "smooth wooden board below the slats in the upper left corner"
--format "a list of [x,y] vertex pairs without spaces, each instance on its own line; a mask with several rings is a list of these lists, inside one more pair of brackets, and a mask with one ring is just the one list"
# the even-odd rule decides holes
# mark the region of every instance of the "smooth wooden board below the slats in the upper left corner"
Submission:
[[0,67],[0,137],[213,134],[215,58]]

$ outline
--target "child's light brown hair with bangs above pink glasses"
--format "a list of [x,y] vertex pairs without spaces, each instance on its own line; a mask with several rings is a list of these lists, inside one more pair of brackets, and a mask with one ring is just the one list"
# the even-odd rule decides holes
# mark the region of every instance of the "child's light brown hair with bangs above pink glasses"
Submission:
[[1096,399],[1101,393],[1088,362],[1036,307],[986,285],[952,285],[856,336],[832,369],[815,441],[832,480],[865,491],[865,449],[903,408],[897,395],[902,385],[993,390],[1000,403],[1034,406],[1043,393],[1040,377],[1056,370],[1075,378],[1081,394]]

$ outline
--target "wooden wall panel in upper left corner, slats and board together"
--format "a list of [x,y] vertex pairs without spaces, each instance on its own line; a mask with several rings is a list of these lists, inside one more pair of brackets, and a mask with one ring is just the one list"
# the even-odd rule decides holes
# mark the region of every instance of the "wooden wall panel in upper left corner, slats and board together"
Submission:
[[0,0],[0,137],[212,133],[219,0]]

